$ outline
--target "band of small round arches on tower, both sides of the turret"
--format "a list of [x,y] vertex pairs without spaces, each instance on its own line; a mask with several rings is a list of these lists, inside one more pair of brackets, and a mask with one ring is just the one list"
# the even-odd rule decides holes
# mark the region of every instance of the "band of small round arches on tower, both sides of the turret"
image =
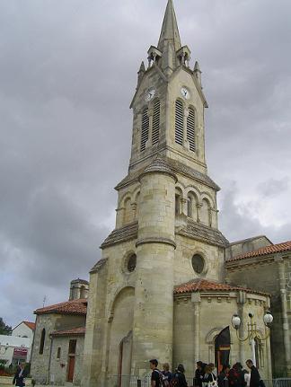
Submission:
[[[128,192],[119,200],[119,226],[124,226],[137,221],[139,208],[139,188],[133,193]],[[188,187],[184,189],[177,185],[175,189],[175,214],[185,215],[194,222],[216,227],[216,205],[207,192]]]

